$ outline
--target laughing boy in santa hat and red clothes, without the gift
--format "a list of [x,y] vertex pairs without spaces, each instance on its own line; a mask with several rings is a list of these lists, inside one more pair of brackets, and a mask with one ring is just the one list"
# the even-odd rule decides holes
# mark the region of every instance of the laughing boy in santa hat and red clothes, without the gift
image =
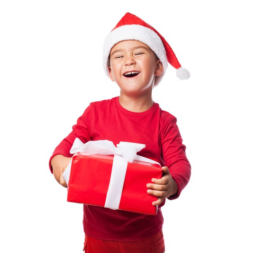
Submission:
[[152,203],[158,205],[157,215],[84,205],[87,253],[164,252],[161,207],[166,198],[179,197],[191,173],[176,118],[152,99],[153,87],[162,79],[168,62],[180,79],[189,78],[166,40],[146,22],[126,13],[107,36],[103,50],[103,67],[119,86],[120,96],[91,103],[50,158],[50,169],[64,187],[62,174],[71,160],[70,148],[76,137],[83,143],[143,143],[146,148],[138,154],[157,159],[163,166],[162,178],[146,185],[148,194],[158,197]]

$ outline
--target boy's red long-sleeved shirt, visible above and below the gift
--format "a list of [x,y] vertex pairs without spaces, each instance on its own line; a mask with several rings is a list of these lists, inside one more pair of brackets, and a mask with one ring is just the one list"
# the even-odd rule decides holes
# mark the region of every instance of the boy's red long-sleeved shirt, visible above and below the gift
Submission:
[[[186,158],[186,147],[182,144],[176,118],[161,110],[157,103],[145,112],[130,112],[120,105],[119,97],[93,102],[72,129],[56,147],[52,157],[56,154],[71,157],[70,148],[76,137],[83,143],[105,139],[115,145],[120,141],[143,143],[146,148],[138,154],[156,159],[162,166],[167,166],[177,182],[177,195],[168,199],[179,197],[189,181],[191,166]],[[157,215],[84,205],[84,231],[91,237],[105,240],[143,240],[162,229],[163,216],[160,207],[164,203],[165,200],[159,205]]]

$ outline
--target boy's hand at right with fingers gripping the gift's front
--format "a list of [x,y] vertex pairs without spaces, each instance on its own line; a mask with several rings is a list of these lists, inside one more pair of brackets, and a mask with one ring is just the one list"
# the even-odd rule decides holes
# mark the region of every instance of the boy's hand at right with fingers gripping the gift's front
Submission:
[[147,184],[147,193],[159,197],[157,201],[152,203],[153,206],[161,204],[165,198],[168,198],[178,192],[177,183],[173,180],[168,167],[164,166],[162,169],[162,178],[153,178],[151,181],[154,184]]

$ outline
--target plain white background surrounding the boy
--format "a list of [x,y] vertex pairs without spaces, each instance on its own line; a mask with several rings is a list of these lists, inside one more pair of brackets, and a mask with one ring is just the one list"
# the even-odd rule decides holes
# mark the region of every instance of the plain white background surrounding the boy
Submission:
[[179,81],[169,66],[153,91],[192,165],[162,208],[166,252],[256,252],[253,2],[1,0],[0,252],[82,252],[82,205],[66,202],[48,160],[91,101],[118,96],[102,45],[126,12],[191,72]]

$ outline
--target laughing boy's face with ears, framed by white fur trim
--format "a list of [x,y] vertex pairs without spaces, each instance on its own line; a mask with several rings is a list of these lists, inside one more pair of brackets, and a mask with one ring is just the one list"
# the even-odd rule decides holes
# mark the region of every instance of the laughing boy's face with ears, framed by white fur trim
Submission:
[[110,78],[120,87],[121,95],[141,96],[152,93],[155,76],[163,72],[155,53],[138,40],[124,40],[110,51]]

